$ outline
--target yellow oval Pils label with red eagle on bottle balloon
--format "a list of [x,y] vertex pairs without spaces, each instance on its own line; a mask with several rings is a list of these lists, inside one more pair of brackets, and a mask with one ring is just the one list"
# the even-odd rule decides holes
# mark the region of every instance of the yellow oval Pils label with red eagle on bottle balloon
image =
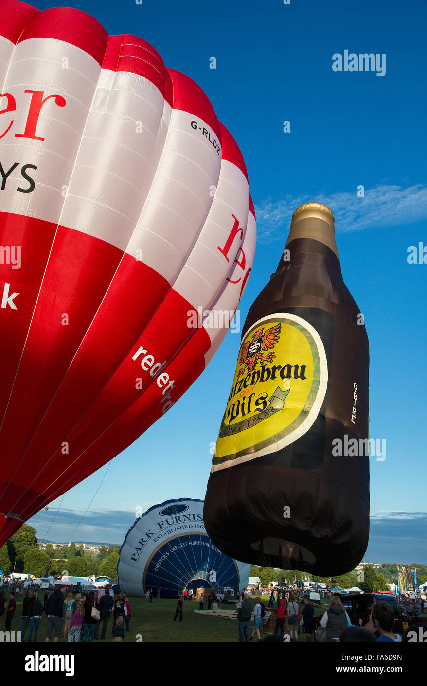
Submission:
[[212,471],[267,455],[303,436],[328,386],[324,344],[294,314],[258,320],[243,339]]

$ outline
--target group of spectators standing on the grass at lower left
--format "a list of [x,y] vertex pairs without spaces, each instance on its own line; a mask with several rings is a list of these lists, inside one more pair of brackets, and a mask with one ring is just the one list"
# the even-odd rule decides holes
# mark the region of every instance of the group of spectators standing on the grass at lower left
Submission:
[[[67,641],[86,642],[105,639],[108,623],[112,619],[113,641],[123,641],[125,632],[130,629],[132,616],[130,602],[125,593],[114,592],[109,588],[96,592],[73,593],[65,586],[56,587],[49,595],[40,600],[40,591],[25,591],[22,601],[21,641],[25,640],[28,630],[28,641],[37,641],[38,630],[43,615],[46,615],[47,626],[45,641],[58,641],[60,636]],[[40,597],[39,597],[40,596]],[[6,600],[5,592],[0,591],[0,629],[3,617],[6,617],[5,630],[12,631],[12,620],[16,613],[16,591],[11,591]],[[99,637],[99,628],[101,636]]]

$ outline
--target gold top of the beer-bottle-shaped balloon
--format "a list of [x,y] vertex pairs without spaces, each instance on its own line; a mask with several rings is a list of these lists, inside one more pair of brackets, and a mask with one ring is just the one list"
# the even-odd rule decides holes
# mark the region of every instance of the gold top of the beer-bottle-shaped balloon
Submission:
[[334,213],[328,206],[321,202],[304,202],[292,215],[286,246],[296,238],[311,238],[324,243],[339,259],[334,221]]

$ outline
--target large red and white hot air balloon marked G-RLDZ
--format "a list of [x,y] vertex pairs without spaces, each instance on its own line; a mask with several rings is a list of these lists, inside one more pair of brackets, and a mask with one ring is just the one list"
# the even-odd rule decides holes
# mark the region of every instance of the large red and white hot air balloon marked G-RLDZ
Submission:
[[0,34],[3,545],[195,381],[256,224],[236,142],[145,40],[14,0]]

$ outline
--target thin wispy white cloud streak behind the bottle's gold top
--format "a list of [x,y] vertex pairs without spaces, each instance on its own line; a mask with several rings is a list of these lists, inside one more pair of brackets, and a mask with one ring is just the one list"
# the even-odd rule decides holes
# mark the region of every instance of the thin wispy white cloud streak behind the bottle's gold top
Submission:
[[365,188],[364,198],[358,198],[356,190],[329,196],[320,193],[315,198],[285,196],[278,202],[269,198],[255,208],[258,241],[283,241],[284,233],[289,230],[293,211],[310,200],[323,202],[332,209],[337,233],[361,231],[376,226],[411,224],[427,219],[427,187],[420,183],[408,188],[393,185]]

